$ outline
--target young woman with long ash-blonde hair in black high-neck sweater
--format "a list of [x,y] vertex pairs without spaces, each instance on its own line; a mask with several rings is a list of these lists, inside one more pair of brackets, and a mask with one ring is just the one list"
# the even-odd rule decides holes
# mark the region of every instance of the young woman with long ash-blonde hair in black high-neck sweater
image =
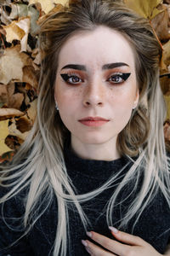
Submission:
[[1,171],[0,255],[162,255],[170,182],[150,24],[118,2],[74,1],[42,21],[39,45],[37,119]]

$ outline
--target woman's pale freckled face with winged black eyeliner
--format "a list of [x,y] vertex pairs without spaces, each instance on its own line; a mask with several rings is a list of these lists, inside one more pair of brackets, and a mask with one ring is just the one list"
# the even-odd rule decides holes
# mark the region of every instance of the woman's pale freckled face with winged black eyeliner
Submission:
[[139,100],[127,39],[105,26],[69,38],[59,52],[54,97],[71,143],[116,143]]

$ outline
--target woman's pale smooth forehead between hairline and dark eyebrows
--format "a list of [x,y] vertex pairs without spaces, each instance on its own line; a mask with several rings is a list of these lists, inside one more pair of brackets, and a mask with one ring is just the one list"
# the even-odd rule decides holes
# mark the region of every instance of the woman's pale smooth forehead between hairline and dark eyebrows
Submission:
[[105,63],[120,61],[134,68],[133,48],[120,32],[106,26],[77,32],[59,52],[59,66],[77,63],[95,69]]

